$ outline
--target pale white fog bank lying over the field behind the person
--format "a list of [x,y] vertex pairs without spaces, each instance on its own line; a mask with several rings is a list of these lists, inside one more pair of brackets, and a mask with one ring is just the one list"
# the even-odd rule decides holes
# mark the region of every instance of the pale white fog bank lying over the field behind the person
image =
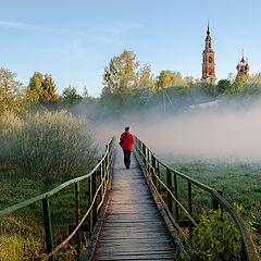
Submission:
[[157,154],[172,153],[222,160],[261,160],[261,105],[247,111],[201,110],[197,113],[99,126],[99,135],[117,136],[125,125]]

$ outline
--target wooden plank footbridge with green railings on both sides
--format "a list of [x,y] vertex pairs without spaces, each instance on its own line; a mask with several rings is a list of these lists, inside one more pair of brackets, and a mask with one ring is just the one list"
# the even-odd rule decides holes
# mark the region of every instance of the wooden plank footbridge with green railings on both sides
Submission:
[[[125,170],[122,151],[112,139],[87,175],[0,211],[0,217],[4,219],[42,201],[46,253],[32,260],[67,260],[60,258],[59,252],[69,241],[76,246],[75,258],[70,260],[189,260],[183,245],[192,237],[198,223],[192,211],[194,187],[209,195],[212,209],[222,208],[233,217],[241,234],[240,260],[259,260],[245,222],[216,190],[167,166],[142,141],[135,139],[129,170]],[[184,191],[179,179],[187,183],[186,203],[181,200]],[[86,196],[85,209],[80,184]],[[53,240],[50,200],[70,186],[75,191],[75,223],[70,225],[67,237],[58,244]]]

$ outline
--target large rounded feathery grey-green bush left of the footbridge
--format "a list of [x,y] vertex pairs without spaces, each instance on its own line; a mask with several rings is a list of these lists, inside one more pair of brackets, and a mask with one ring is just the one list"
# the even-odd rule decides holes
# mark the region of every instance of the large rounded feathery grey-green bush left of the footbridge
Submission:
[[87,120],[62,112],[29,115],[8,139],[9,161],[29,177],[50,182],[86,173],[97,157]]

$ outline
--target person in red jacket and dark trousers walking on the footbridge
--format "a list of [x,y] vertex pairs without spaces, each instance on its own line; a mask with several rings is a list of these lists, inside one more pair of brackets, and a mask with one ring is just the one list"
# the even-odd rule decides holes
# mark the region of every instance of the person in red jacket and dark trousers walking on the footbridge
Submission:
[[121,135],[120,141],[122,142],[122,149],[124,153],[124,165],[129,169],[130,154],[133,150],[133,144],[135,142],[134,136],[130,134],[130,127],[125,127],[125,132]]

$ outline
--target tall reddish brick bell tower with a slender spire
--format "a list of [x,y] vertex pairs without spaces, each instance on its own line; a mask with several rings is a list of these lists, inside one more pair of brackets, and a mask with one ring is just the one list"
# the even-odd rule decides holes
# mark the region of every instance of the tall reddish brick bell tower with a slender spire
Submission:
[[212,39],[210,37],[209,21],[207,37],[204,39],[206,46],[203,50],[203,62],[202,62],[202,79],[214,79],[215,80],[215,63],[214,63],[214,51],[212,49]]

